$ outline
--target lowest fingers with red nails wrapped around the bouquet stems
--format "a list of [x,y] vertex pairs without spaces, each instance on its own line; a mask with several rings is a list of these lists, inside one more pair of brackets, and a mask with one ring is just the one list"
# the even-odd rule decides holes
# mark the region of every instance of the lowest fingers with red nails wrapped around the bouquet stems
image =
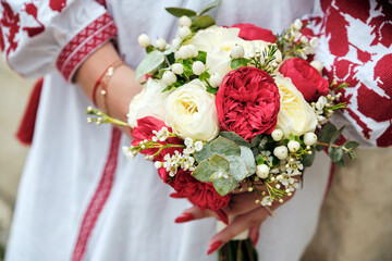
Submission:
[[236,235],[250,227],[249,237],[253,239],[254,245],[258,240],[258,231],[261,223],[267,219],[268,211],[265,208],[257,208],[246,214],[238,215],[230,225],[228,225],[220,233],[216,234],[209,241],[208,253],[218,250],[225,243],[233,239]]

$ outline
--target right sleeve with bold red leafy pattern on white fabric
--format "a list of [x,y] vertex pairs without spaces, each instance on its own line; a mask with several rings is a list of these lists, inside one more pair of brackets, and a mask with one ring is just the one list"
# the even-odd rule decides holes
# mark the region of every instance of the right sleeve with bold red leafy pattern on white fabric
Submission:
[[392,2],[321,0],[310,27],[320,39],[316,60],[329,79],[347,83],[343,133],[365,147],[392,145]]

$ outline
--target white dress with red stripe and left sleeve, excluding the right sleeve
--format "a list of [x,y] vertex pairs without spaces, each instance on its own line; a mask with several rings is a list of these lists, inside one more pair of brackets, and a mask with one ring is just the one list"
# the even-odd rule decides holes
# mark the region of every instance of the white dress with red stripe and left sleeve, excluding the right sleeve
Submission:
[[[86,123],[91,102],[72,76],[84,59],[117,37],[135,67],[145,55],[137,36],[175,37],[167,7],[200,10],[209,1],[0,1],[1,49],[11,67],[45,76],[34,141],[20,184],[8,261],[217,260],[206,256],[215,220],[175,224],[189,207],[171,199],[151,162],[128,161],[130,139],[112,127]],[[211,14],[219,25],[254,23],[280,33],[310,14],[313,0],[223,0]],[[320,59],[322,60],[322,59]],[[320,153],[304,188],[261,226],[260,260],[298,260],[317,226],[330,162]]]

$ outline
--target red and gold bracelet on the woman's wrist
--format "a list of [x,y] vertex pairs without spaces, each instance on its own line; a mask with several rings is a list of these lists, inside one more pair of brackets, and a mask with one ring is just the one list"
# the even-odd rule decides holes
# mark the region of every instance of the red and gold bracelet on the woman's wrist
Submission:
[[94,88],[93,88],[93,103],[97,107],[97,100],[96,100],[96,92],[98,89],[98,86],[101,86],[100,94],[100,103],[102,105],[102,111],[105,113],[108,113],[108,105],[106,102],[106,95],[107,95],[107,88],[110,78],[113,76],[115,69],[120,67],[121,65],[125,65],[124,61],[115,61],[112,64],[110,64],[107,70],[103,71],[103,73],[99,76],[98,80],[96,82]]

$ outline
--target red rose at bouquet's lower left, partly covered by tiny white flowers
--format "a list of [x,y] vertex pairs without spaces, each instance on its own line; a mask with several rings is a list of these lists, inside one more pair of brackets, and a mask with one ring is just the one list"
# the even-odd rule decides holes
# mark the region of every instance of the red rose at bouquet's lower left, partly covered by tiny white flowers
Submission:
[[[164,124],[164,122],[162,122],[161,120],[158,120],[154,116],[145,116],[145,117],[138,119],[137,126],[132,129],[132,136],[135,138],[134,140],[132,140],[132,145],[137,146],[142,140],[145,140],[145,139],[151,140],[152,136],[155,136],[152,130],[159,132],[162,127],[167,127],[169,129],[169,132],[172,132],[172,129],[170,127],[168,127]],[[162,145],[167,145],[167,144],[183,145],[184,144],[182,141],[182,139],[176,138],[176,137],[170,137],[167,139],[167,141],[158,141],[158,142],[162,144]],[[174,154],[175,150],[179,150],[179,152],[181,152],[183,149],[176,148],[176,147],[164,149],[164,150],[162,150],[161,153],[159,153],[159,156],[157,156],[155,158],[155,160],[162,161],[163,157],[167,153]],[[157,151],[158,151],[158,149],[145,149],[145,150],[142,150],[140,153],[154,154]]]

